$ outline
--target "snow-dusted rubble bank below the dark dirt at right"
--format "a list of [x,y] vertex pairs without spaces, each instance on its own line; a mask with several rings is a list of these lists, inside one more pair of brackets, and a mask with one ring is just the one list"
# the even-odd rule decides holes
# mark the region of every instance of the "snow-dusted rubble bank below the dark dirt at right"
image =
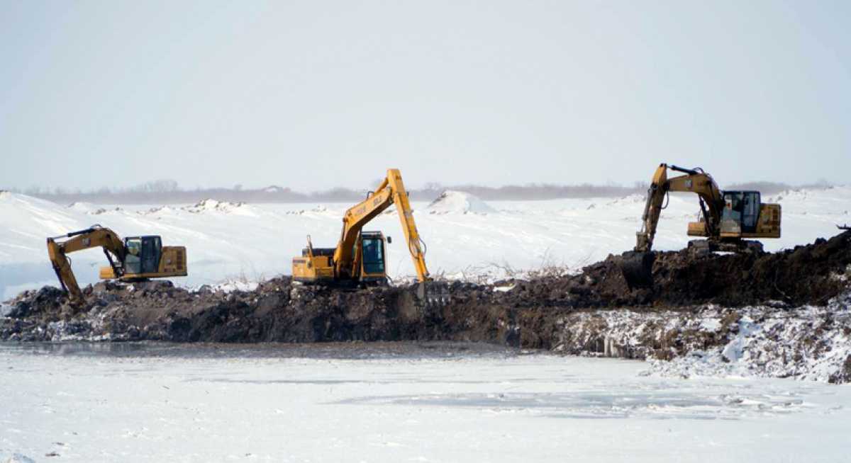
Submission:
[[601,310],[561,325],[555,351],[648,359],[648,374],[851,382],[851,291],[825,307]]

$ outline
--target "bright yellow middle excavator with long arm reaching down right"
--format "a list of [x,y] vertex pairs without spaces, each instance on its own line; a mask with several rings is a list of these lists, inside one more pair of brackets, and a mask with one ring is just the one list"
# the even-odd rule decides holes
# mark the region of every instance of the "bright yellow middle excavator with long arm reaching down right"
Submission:
[[417,231],[408,191],[398,169],[388,169],[378,188],[346,211],[336,247],[313,247],[311,237],[307,237],[307,247],[302,249],[300,257],[293,258],[293,279],[320,285],[386,284],[385,244],[392,243],[391,237],[385,238],[380,231],[364,231],[363,227],[393,205],[396,205],[408,252],[420,281],[418,295],[427,302],[445,302],[446,291],[433,283],[426,268],[425,244]]

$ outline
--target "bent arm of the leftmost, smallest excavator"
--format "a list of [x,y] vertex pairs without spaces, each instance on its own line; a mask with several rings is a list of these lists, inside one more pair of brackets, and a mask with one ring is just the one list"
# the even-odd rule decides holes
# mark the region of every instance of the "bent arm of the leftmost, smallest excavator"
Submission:
[[[57,241],[63,238],[68,238],[68,240]],[[83,291],[80,291],[77,277],[71,270],[71,259],[67,255],[71,252],[83,251],[93,247],[103,248],[106,259],[109,260],[116,275],[120,276],[123,273],[124,244],[122,239],[111,229],[93,225],[89,229],[48,238],[50,263],[53,265],[62,289],[71,297],[71,302],[83,302]]]

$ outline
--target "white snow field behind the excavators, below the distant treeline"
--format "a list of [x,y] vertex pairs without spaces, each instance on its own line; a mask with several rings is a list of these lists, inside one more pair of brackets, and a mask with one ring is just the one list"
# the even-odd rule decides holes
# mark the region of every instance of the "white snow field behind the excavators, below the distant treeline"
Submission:
[[[414,198],[415,200],[415,198]],[[763,201],[783,206],[783,238],[763,240],[768,251],[812,242],[851,222],[851,187],[802,189]],[[490,201],[448,192],[434,204],[414,202],[431,274],[451,278],[501,278],[512,272],[560,266],[580,268],[627,251],[641,225],[643,196],[613,199]],[[41,285],[58,285],[47,259],[47,236],[94,223],[122,236],[160,234],[163,244],[187,247],[189,276],[177,285],[250,284],[289,274],[306,235],[314,246],[336,246],[347,204],[231,204],[206,200],[182,206],[58,205],[26,195],[0,193],[0,300]],[[688,243],[686,223],[697,217],[694,195],[671,195],[655,248]],[[409,278],[414,267],[392,209],[368,229],[394,240],[388,273]],[[71,255],[81,285],[97,280],[106,265],[99,249]]]

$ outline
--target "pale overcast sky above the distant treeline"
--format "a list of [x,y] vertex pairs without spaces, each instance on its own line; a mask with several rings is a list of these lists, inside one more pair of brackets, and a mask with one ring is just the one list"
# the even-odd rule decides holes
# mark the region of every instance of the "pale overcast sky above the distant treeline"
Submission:
[[851,2],[0,0],[0,187],[851,183]]

